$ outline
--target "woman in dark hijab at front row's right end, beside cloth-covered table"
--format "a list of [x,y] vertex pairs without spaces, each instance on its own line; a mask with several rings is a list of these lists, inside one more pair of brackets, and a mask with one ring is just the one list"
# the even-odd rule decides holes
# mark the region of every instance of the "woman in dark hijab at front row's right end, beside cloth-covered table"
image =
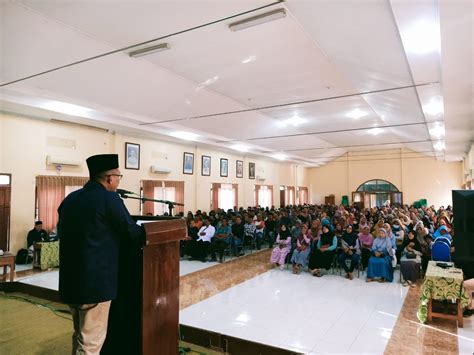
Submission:
[[415,286],[414,283],[420,277],[421,246],[416,239],[416,232],[408,232],[407,238],[402,244],[403,254],[400,259],[400,272],[402,273],[403,286]]

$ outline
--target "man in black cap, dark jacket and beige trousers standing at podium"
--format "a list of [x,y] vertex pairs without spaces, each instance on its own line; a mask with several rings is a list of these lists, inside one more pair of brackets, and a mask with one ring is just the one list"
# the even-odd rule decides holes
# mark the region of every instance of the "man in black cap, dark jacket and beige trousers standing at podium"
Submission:
[[94,155],[87,167],[90,180],[58,209],[59,295],[73,317],[73,354],[100,353],[117,296],[120,241],[144,235],[115,192],[122,178],[118,155]]

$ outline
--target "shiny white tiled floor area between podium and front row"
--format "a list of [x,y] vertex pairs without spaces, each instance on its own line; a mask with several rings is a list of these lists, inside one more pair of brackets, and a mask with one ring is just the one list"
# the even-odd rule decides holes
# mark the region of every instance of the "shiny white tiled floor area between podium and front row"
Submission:
[[182,310],[180,322],[302,353],[381,354],[407,289],[362,276],[272,270]]

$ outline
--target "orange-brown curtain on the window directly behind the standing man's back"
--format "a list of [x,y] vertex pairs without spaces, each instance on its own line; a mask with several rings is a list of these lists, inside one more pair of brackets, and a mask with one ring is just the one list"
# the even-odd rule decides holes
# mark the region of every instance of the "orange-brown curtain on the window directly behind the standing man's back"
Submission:
[[88,180],[81,176],[36,177],[38,219],[43,221],[47,232],[51,232],[58,224],[58,207],[64,200],[66,186],[84,186]]

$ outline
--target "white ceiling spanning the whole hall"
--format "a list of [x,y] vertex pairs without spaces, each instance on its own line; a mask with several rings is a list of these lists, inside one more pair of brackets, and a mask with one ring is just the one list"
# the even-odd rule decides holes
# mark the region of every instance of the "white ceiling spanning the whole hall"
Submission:
[[[229,29],[280,8],[285,18]],[[471,0],[0,0],[0,11],[3,111],[190,132],[308,166],[393,148],[459,161],[474,139]],[[157,43],[171,49],[128,56]]]

